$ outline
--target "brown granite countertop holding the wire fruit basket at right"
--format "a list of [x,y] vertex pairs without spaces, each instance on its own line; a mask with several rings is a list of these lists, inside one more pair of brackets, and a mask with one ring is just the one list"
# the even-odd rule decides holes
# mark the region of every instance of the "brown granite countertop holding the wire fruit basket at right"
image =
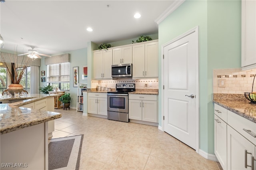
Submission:
[[[214,94],[213,102],[256,123],[256,105],[251,104],[244,95]],[[223,95],[223,97],[221,97]]]

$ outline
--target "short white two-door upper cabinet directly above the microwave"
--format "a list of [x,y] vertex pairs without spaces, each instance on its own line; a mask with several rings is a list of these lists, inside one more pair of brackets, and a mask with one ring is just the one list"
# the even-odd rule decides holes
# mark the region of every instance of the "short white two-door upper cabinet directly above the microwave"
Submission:
[[132,63],[132,45],[113,49],[113,65]]

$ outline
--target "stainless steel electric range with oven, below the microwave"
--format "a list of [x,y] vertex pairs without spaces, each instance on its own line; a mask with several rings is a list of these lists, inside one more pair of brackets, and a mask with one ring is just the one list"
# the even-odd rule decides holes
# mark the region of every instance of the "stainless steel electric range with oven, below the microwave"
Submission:
[[134,83],[116,84],[116,91],[109,91],[108,119],[129,122],[128,93],[135,91]]

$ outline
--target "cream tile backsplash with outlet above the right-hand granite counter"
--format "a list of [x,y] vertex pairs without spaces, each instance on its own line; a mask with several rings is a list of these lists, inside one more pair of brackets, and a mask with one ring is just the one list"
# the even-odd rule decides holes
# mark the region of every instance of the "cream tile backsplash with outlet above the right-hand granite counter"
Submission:
[[[256,69],[242,71],[237,69],[213,70],[213,93],[244,94],[252,91]],[[256,80],[253,91],[256,91]]]

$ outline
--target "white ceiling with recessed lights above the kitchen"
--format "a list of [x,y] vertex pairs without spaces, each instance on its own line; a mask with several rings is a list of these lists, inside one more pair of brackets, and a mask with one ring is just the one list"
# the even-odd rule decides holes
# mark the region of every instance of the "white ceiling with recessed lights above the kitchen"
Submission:
[[[6,0],[0,4],[4,50],[34,46],[53,55],[96,44],[158,33],[154,22],[171,0]],[[109,5],[109,7],[107,7]],[[133,16],[140,12],[141,18]],[[91,27],[93,32],[86,31]],[[135,39],[136,40],[136,39]]]

